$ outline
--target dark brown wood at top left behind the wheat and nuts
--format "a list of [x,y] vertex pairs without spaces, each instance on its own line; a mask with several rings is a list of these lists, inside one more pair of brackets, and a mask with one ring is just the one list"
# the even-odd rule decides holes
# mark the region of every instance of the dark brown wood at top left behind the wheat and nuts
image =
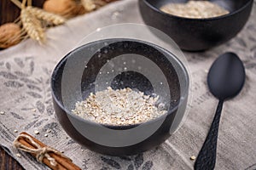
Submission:
[[[20,0],[21,2],[21,0]],[[42,7],[44,0],[34,0],[32,5]],[[7,22],[15,21],[20,15],[20,8],[18,8],[10,0],[0,0],[0,25]]]

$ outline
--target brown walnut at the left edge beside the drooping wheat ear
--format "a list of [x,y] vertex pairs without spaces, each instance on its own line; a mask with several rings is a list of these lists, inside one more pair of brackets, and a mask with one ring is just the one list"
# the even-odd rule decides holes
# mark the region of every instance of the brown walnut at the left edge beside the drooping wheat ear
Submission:
[[21,29],[15,23],[0,26],[0,48],[9,48],[21,40]]

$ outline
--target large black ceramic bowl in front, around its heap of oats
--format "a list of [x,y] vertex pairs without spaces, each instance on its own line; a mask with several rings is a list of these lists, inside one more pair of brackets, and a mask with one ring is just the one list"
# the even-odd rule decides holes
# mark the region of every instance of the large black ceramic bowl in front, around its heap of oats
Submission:
[[[120,70],[124,64],[127,69]],[[142,124],[110,126],[72,113],[78,100],[108,86],[158,94],[166,102],[167,114]],[[163,143],[177,129],[187,105],[189,76],[181,61],[164,48],[138,40],[105,39],[76,48],[61,59],[51,88],[55,114],[71,138],[90,150],[124,156]]]

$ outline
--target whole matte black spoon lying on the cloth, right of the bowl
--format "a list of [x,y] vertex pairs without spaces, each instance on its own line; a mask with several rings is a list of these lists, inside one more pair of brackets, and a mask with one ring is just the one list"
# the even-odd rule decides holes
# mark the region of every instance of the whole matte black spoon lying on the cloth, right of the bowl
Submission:
[[234,53],[225,53],[212,64],[207,82],[211,93],[219,99],[218,107],[199,155],[195,170],[212,170],[215,167],[218,139],[218,124],[224,100],[239,94],[245,82],[245,69],[241,59]]

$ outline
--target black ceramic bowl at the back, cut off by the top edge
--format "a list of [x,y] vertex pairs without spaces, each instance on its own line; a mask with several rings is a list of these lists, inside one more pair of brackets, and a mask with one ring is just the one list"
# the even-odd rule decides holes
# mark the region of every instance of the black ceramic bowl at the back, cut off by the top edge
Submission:
[[227,42],[241,31],[251,13],[253,0],[210,0],[230,14],[209,19],[188,19],[166,14],[160,8],[166,3],[188,0],[139,0],[140,13],[148,26],[164,31],[183,50],[201,51]]

